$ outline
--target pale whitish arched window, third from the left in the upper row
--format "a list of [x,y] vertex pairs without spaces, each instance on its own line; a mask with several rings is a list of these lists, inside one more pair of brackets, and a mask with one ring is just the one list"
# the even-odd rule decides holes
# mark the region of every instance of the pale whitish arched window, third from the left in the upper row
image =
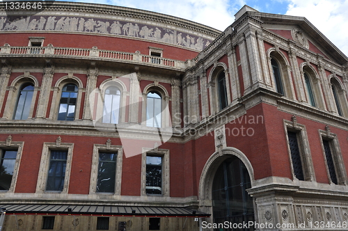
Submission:
[[111,86],[105,90],[103,122],[118,124],[121,91]]

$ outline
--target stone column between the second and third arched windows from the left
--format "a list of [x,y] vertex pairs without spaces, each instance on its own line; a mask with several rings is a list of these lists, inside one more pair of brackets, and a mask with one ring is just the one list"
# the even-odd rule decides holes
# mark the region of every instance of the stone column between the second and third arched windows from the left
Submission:
[[[83,120],[92,120],[90,104],[93,104],[94,101],[90,102],[89,95],[97,87],[98,70],[97,70],[97,67],[95,67],[95,63],[91,63],[91,64],[92,64],[92,67],[87,72],[88,78],[87,78],[86,95],[85,95],[85,103],[84,103],[84,116],[82,117]],[[78,118],[78,116],[76,118]]]

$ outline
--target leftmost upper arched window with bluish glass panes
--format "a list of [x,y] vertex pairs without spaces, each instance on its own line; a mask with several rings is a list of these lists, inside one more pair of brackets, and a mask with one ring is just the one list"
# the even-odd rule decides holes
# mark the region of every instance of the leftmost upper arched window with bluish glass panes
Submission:
[[19,90],[17,106],[15,110],[15,120],[26,120],[29,117],[31,99],[33,99],[33,83],[24,83]]

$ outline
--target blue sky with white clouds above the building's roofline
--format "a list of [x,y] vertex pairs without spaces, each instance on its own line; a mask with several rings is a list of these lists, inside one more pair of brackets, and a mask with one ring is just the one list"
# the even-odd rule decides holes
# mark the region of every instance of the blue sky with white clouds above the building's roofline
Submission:
[[[70,0],[71,1],[71,0]],[[348,56],[348,0],[76,0],[182,17],[223,31],[244,5],[263,13],[306,17]]]

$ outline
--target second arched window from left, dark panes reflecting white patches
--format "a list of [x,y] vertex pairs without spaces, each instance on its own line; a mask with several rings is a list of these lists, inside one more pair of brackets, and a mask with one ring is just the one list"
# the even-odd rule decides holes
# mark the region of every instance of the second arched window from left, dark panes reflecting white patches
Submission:
[[63,87],[59,104],[58,120],[74,120],[77,101],[77,86],[68,83]]

